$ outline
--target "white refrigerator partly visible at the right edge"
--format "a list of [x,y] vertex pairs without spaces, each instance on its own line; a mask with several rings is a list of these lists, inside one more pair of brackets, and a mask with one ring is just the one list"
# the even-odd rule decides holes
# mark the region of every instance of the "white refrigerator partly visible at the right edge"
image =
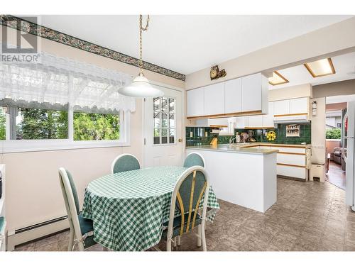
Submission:
[[349,101],[344,116],[344,160],[346,162],[346,204],[355,211],[355,101]]

